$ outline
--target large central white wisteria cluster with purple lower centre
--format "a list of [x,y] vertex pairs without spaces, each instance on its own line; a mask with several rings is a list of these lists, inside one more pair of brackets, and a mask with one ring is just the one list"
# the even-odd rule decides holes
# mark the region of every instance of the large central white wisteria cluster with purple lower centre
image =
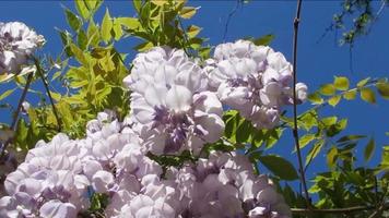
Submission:
[[123,82],[132,92],[134,129],[152,153],[199,154],[203,144],[222,135],[222,104],[184,50],[156,47],[139,53]]

